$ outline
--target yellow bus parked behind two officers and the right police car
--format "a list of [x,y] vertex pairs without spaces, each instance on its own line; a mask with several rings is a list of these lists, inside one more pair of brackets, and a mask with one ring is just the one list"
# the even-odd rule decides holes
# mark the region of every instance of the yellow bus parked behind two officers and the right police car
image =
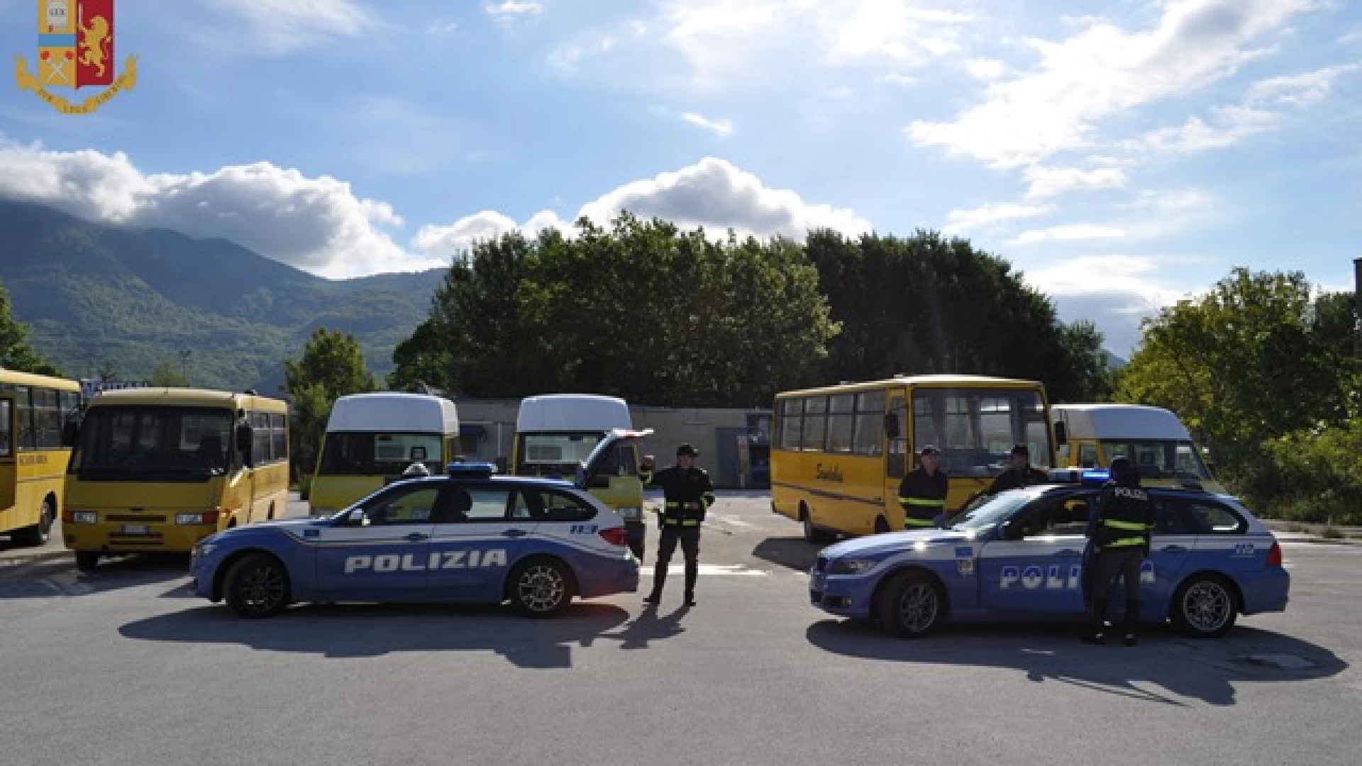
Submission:
[[904,527],[899,482],[918,450],[941,453],[947,512],[1007,469],[1013,444],[1054,466],[1045,386],[974,375],[895,376],[775,397],[771,510],[809,542]]

